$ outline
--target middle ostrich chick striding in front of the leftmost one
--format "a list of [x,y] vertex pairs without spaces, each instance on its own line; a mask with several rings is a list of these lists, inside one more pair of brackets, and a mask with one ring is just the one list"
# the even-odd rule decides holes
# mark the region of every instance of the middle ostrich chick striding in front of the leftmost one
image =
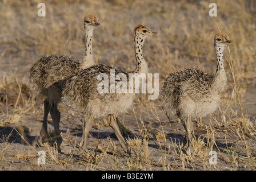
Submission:
[[[109,92],[109,89],[111,88],[111,81],[109,81],[109,78],[111,71],[114,71],[115,76],[122,73],[126,78],[129,77],[129,73],[147,73],[147,63],[142,55],[142,46],[145,38],[154,34],[157,34],[157,32],[151,31],[142,24],[135,27],[133,41],[137,67],[133,72],[127,72],[99,64],[79,71],[66,80],[55,84],[56,88],[61,88],[62,90],[63,103],[70,107],[71,110],[85,115],[81,141],[81,146],[83,148],[86,147],[86,138],[93,125],[93,118],[109,115],[109,125],[111,129],[114,131],[115,135],[117,135],[123,150],[130,154],[130,147],[127,145],[121,134],[116,117],[118,113],[126,111],[131,107],[135,93]],[[99,93],[97,90],[97,87],[102,83],[102,80],[98,80],[98,76],[101,74],[107,76],[107,93]],[[116,86],[118,83],[119,81],[115,79],[114,85]],[[125,85],[127,85],[128,89],[129,84],[126,83]],[[54,86],[53,89],[55,89]]]

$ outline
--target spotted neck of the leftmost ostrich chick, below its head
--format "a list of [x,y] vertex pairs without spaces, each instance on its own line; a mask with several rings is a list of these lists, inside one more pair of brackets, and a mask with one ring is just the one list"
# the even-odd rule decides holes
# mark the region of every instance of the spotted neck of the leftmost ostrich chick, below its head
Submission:
[[93,58],[93,28],[85,28],[85,55],[81,63],[81,69],[86,69],[94,65]]

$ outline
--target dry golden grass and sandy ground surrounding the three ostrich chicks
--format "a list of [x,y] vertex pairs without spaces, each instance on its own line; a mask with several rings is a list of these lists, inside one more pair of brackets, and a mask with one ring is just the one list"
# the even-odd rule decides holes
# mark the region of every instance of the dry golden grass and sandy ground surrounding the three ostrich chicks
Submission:
[[[38,17],[40,2],[0,2],[2,169],[256,169],[256,101],[248,96],[250,89],[256,90],[256,1],[213,1],[218,6],[218,16],[213,18],[208,15],[210,9],[206,1],[52,0],[45,1],[46,17]],[[97,16],[101,23],[94,31],[93,40],[97,63],[134,69],[133,28],[141,23],[157,31],[157,35],[146,40],[143,55],[149,63],[149,72],[159,73],[160,85],[167,73],[182,68],[198,67],[214,73],[213,36],[219,29],[229,35],[233,42],[224,57],[228,82],[219,110],[195,121],[195,156],[182,152],[185,131],[175,113],[162,109],[159,100],[145,100],[141,96],[134,101],[132,110],[119,115],[133,133],[127,142],[137,155],[123,154],[117,139],[109,137],[111,131],[104,133],[105,118],[95,122],[89,151],[75,148],[59,154],[47,144],[37,145],[42,98],[27,88],[26,72],[42,55],[65,53],[81,59],[82,21],[86,14]],[[61,119],[66,131],[62,133],[64,145],[77,146],[81,136],[75,136],[81,132],[82,118],[69,115],[62,105],[60,110],[65,113]],[[9,131],[13,127],[17,131]],[[40,150],[46,152],[45,166],[37,165]],[[217,152],[216,165],[209,164],[211,150]],[[15,162],[20,165],[13,165]]]

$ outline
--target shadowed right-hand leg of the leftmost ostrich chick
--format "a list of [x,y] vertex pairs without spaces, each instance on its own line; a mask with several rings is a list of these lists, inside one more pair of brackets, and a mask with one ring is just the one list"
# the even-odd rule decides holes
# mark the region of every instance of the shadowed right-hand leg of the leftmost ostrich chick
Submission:
[[58,104],[53,103],[50,108],[51,118],[53,119],[54,131],[55,131],[55,138],[58,150],[61,150],[61,131],[59,130],[59,122],[61,121],[61,113],[58,110]]

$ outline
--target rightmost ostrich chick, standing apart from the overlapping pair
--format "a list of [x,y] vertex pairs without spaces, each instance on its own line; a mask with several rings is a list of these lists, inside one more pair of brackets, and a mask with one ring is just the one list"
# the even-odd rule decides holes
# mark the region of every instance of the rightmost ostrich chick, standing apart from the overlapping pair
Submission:
[[161,100],[169,109],[175,109],[186,131],[183,148],[194,154],[191,145],[193,123],[191,117],[204,117],[217,110],[221,92],[226,85],[226,73],[223,65],[223,50],[231,43],[227,35],[214,36],[217,56],[217,70],[214,75],[199,69],[184,69],[167,75],[161,88]]

